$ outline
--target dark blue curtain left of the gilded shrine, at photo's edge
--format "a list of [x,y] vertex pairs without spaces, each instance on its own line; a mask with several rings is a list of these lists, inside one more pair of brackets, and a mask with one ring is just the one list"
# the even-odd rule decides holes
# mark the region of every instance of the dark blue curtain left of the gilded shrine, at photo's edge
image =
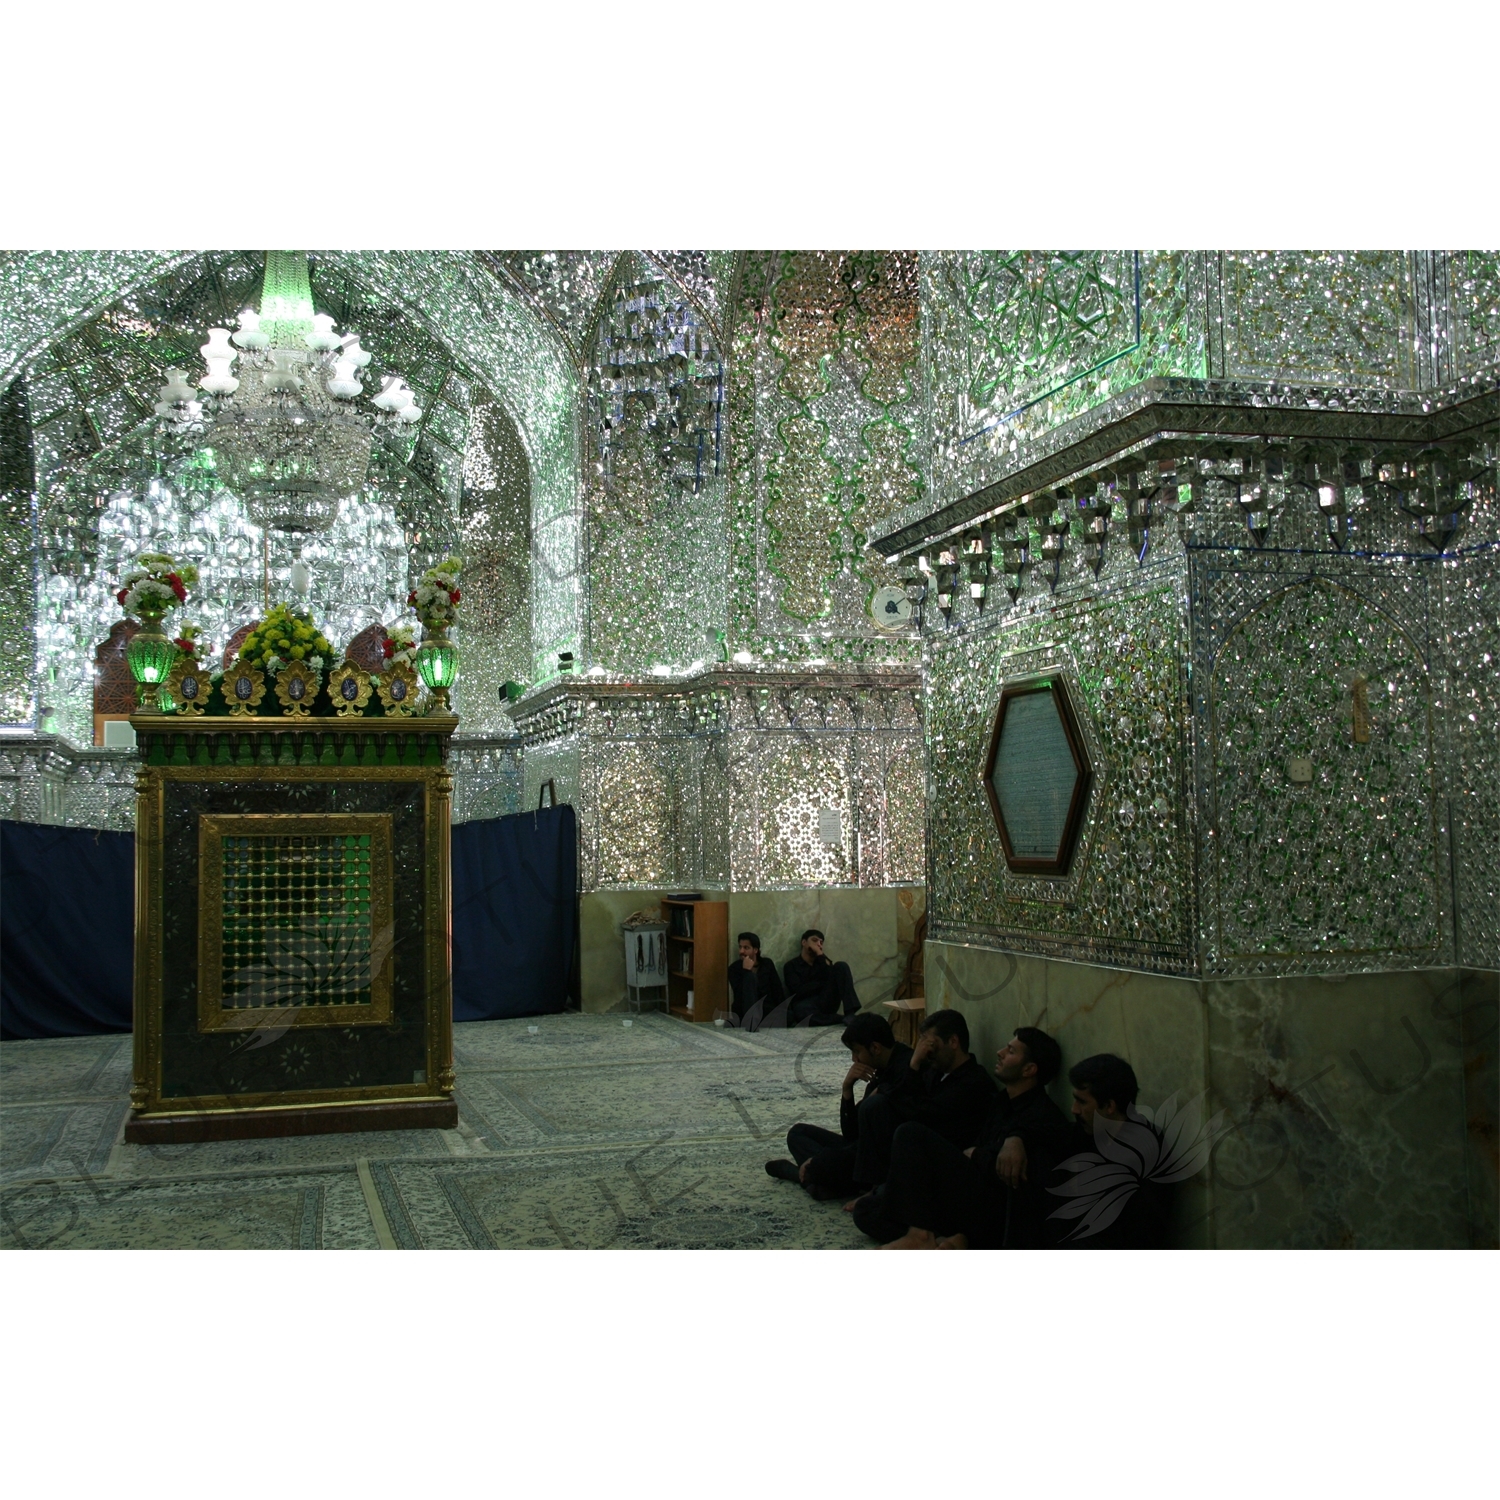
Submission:
[[0,822],[0,1038],[130,1029],[135,834]]

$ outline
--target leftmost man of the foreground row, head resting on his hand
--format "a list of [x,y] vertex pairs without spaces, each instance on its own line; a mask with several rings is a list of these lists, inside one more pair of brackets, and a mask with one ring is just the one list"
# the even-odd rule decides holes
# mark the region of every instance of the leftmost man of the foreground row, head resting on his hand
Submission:
[[[784,1182],[801,1182],[814,1198],[848,1197],[861,1184],[880,1182],[890,1156],[890,1132],[879,1126],[862,1128],[882,1095],[900,1086],[912,1048],[891,1035],[884,1016],[855,1016],[838,1038],[854,1062],[844,1074],[838,1095],[836,1136],[820,1125],[794,1125],[786,1132],[792,1161],[768,1161],[765,1170]],[[864,1080],[864,1098],[855,1104],[854,1086]]]

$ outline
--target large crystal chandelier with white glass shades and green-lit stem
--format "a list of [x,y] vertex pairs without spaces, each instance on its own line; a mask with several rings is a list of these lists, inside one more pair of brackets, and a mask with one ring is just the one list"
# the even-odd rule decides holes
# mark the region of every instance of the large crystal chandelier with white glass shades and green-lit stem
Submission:
[[219,478],[255,525],[291,534],[292,586],[304,592],[302,538],[327,531],[363,488],[376,430],[411,426],[422,408],[399,375],[358,402],[370,354],[357,333],[340,334],[314,312],[300,250],[266,252],[260,312],[242,312],[232,334],[210,328],[200,352],[207,372],[194,386],[182,369],[168,370],[156,416],[213,452]]

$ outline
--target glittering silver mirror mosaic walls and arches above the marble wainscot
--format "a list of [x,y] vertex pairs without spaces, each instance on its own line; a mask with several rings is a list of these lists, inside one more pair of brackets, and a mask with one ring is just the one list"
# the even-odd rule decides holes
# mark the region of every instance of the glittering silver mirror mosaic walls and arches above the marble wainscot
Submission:
[[[258,264],[0,260],[0,717],[32,729],[0,746],[16,816],[126,818],[114,759],[87,748],[120,555],[200,556],[208,634],[285,572],[147,422],[162,370],[196,357]],[[912,880],[927,848],[936,927],[1176,974],[1496,951],[1494,470],[1438,555],[1376,468],[1392,444],[1492,453],[1500,256],[326,252],[314,285],[426,412],[348,507],[339,567],[309,555],[315,608],[346,630],[388,618],[420,567],[464,552],[459,816],[572,788],[603,885],[738,882],[748,849],[752,882]],[[1298,480],[1292,450],[1314,441],[1364,466],[1334,510]],[[944,614],[915,560],[984,528],[982,608],[957,561]],[[879,590],[924,588],[910,618],[876,622]],[[684,735],[675,710],[628,736],[621,710],[543,734],[537,699],[518,732],[502,686],[526,686],[525,710],[561,652],[580,687],[638,684],[645,704],[694,674],[742,674],[723,692],[748,704],[766,672],[921,669],[926,728],[902,734],[924,750],[872,760],[860,711],[844,724],[813,686],[816,711],[774,694],[788,724],[832,736],[816,753],[771,748],[764,714],[746,760],[712,748],[738,730]],[[1100,759],[1050,885],[1005,870],[970,765],[999,686],[1036,663],[1068,674]],[[1378,776],[1338,740],[1354,678]],[[1268,850],[1258,830],[1282,819],[1257,796],[1292,759],[1314,780],[1278,784],[1292,842]],[[748,765],[760,812],[730,792]],[[808,816],[840,810],[846,843],[778,822],[777,786],[819,788]],[[687,848],[676,830],[704,807],[738,810]],[[1388,848],[1396,820],[1425,832]]]

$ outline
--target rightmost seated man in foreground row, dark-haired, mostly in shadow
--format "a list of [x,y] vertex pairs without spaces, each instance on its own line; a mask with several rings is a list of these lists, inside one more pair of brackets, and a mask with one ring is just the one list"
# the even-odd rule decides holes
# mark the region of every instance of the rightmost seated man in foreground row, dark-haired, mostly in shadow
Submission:
[[[1136,1113],[1136,1070],[1113,1053],[1101,1052],[1084,1058],[1068,1070],[1072,1084],[1072,1118],[1077,1122],[1074,1155],[1053,1173],[1048,1197],[1056,1196],[1050,1220],[1066,1227],[1077,1220],[1062,1239],[1068,1250],[1164,1250],[1170,1244],[1172,1186],[1166,1182],[1142,1179],[1130,1172],[1131,1160],[1119,1152],[1108,1158],[1114,1167],[1107,1179],[1095,1178],[1090,1168],[1106,1167],[1100,1152],[1100,1136],[1114,1136],[1142,1162],[1160,1161],[1158,1143],[1132,1142],[1138,1131],[1156,1134],[1155,1126]],[[1095,1124],[1100,1122],[1100,1124]],[[1140,1149],[1146,1148],[1146,1149]],[[1084,1174],[1092,1182],[1080,1180]],[[1136,1176],[1132,1184],[1130,1178]]]

